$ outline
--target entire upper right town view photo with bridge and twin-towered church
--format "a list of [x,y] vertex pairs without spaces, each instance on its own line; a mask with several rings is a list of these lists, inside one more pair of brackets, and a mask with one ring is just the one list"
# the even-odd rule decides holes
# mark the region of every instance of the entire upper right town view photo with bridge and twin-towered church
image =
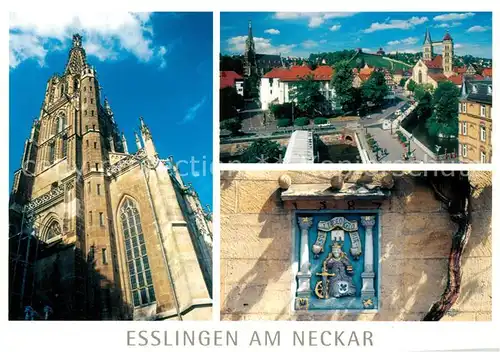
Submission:
[[491,163],[490,12],[221,13],[222,163]]

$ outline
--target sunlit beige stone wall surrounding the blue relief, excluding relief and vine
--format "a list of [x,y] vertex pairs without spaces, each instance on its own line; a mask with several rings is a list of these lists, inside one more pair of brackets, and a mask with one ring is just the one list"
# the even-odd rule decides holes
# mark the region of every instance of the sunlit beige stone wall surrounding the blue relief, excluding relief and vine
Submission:
[[[392,196],[381,205],[377,313],[295,313],[291,310],[293,206],[281,201],[277,180],[283,173],[221,174],[221,319],[420,320],[446,285],[456,229],[429,186],[411,175],[394,174]],[[293,184],[306,184],[329,183],[335,172],[286,173]],[[359,176],[353,173],[351,178]],[[462,289],[443,320],[491,320],[491,174],[472,174],[471,180],[472,235],[463,257]],[[302,202],[299,208],[318,209],[316,203]],[[329,209],[344,206],[327,202]]]

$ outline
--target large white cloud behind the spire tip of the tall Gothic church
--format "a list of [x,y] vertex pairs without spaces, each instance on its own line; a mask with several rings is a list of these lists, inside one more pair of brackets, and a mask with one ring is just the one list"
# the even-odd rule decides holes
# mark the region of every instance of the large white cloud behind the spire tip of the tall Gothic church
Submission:
[[128,52],[141,62],[166,64],[166,48],[153,44],[150,13],[11,13],[9,32],[10,67],[30,58],[43,64],[49,50],[67,49],[76,32],[83,36],[87,54],[99,60],[117,59]]

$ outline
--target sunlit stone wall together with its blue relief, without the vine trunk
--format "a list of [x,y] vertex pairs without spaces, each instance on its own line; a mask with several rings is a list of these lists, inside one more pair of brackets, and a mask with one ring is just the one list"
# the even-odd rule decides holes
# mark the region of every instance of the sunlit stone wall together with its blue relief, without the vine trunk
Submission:
[[[491,173],[468,180],[461,289],[442,320],[489,321]],[[411,172],[224,171],[221,320],[422,320],[447,284],[452,208]]]

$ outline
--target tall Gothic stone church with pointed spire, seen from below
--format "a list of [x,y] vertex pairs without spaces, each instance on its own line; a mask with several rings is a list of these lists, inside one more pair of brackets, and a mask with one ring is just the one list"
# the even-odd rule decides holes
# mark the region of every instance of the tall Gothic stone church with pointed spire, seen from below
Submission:
[[211,216],[142,118],[129,148],[99,89],[74,35],[14,176],[10,319],[211,319]]

